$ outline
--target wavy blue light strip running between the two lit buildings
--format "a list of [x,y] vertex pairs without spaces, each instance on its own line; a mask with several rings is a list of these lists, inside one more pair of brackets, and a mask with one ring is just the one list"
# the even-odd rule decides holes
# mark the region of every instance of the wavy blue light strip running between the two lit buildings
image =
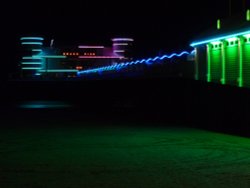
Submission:
[[[193,51],[191,53],[193,53]],[[110,66],[105,66],[105,67],[98,67],[95,69],[79,71],[77,74],[82,75],[82,74],[89,74],[89,73],[101,73],[103,71],[120,70],[120,69],[126,68],[127,66],[130,66],[130,65],[137,65],[137,64],[143,64],[143,63],[147,64],[147,65],[151,65],[157,61],[163,61],[164,59],[172,59],[174,57],[181,57],[183,55],[189,55],[189,54],[190,54],[189,52],[183,51],[179,54],[173,53],[171,55],[156,56],[154,58],[142,59],[142,60],[131,61],[131,62],[124,62],[124,63],[120,63],[120,64],[116,64],[116,65],[110,65]]]

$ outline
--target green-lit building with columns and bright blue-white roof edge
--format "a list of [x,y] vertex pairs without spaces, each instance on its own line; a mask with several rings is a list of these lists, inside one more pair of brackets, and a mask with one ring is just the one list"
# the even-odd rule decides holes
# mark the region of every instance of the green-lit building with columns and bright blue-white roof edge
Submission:
[[197,80],[250,87],[250,11],[235,21],[224,26],[218,20],[217,30],[191,44]]

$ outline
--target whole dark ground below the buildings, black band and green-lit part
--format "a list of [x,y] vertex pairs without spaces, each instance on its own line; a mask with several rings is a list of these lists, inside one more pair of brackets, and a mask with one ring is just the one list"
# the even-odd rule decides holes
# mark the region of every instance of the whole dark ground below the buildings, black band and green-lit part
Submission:
[[250,187],[247,89],[137,79],[1,91],[1,188]]

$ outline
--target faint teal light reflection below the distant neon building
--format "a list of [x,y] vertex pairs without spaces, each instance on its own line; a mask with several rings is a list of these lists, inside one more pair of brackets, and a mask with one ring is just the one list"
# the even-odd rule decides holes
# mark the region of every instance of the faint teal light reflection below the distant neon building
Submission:
[[20,103],[19,108],[24,109],[52,109],[52,108],[70,108],[72,105],[63,101],[24,101]]

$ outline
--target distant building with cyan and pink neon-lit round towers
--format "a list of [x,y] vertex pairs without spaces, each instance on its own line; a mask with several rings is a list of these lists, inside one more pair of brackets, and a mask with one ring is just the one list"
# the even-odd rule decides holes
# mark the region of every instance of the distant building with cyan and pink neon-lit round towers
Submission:
[[42,37],[22,37],[21,75],[25,77],[76,77],[79,71],[131,60],[131,38],[113,38],[112,47],[44,46]]

